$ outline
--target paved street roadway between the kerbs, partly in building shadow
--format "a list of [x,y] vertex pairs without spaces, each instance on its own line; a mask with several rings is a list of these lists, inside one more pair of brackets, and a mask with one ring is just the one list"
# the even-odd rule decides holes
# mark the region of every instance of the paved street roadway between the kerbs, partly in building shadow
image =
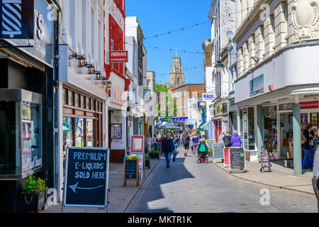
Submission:
[[[265,173],[267,174],[267,173]],[[261,189],[269,189],[270,205],[262,206]],[[164,159],[136,194],[128,213],[318,212],[315,196],[247,182],[212,162],[196,163],[179,148],[169,168]]]

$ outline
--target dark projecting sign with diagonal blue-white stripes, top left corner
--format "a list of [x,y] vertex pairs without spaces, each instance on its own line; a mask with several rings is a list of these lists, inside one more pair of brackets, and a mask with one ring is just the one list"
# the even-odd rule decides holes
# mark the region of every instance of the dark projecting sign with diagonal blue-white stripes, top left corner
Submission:
[[33,40],[33,0],[0,1],[0,18],[0,38]]

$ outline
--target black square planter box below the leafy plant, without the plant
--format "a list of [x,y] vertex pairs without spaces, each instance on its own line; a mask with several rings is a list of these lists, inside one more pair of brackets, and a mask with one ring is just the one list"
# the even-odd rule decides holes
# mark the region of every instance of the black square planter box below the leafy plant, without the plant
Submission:
[[19,195],[20,211],[35,211],[38,213],[40,209],[45,209],[45,194],[28,194],[21,193]]

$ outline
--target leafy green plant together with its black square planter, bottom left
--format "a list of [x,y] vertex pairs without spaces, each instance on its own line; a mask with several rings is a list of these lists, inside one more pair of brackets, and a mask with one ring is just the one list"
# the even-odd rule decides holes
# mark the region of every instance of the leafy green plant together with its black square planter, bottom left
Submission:
[[20,211],[35,211],[45,209],[45,194],[47,187],[45,181],[39,177],[36,179],[33,174],[26,180],[26,187],[19,196]]

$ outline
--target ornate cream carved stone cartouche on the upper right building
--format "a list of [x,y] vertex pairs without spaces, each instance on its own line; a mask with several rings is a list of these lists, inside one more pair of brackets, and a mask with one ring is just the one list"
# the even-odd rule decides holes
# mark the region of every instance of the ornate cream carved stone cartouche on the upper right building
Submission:
[[[293,0],[291,18],[295,42],[319,39],[318,2],[313,0]],[[291,42],[294,43],[294,42]]]

